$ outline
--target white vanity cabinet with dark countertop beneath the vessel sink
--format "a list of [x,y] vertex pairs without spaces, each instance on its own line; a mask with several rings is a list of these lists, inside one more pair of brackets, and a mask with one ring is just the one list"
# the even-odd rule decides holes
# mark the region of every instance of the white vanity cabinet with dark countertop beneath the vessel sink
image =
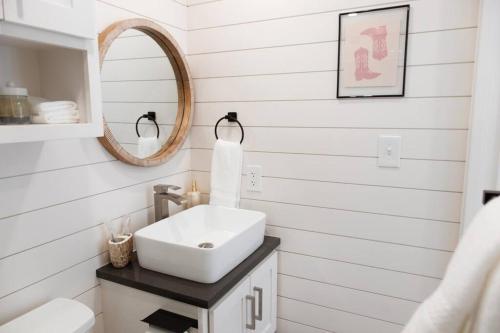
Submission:
[[135,260],[121,270],[101,267],[105,332],[169,332],[144,322],[162,310],[196,320],[190,333],[276,332],[278,244],[268,242],[214,284],[149,271]]

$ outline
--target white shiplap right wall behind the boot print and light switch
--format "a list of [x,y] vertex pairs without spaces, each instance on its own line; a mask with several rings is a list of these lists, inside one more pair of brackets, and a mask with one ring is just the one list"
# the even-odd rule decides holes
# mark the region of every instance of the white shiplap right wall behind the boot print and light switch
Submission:
[[[477,2],[189,1],[193,175],[208,192],[213,124],[237,111],[245,165],[264,173],[242,207],[282,240],[279,332],[399,332],[440,282],[461,218]],[[336,100],[338,13],[407,3],[407,97]],[[399,169],[377,167],[383,134],[402,136]]]

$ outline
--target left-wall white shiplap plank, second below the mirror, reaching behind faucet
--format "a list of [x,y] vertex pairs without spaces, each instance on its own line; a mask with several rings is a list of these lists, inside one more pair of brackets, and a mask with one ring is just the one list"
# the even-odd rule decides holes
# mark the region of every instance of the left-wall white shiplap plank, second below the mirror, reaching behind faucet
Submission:
[[[144,225],[146,219],[150,219],[144,212],[153,205],[153,186],[160,182],[185,187],[189,184],[189,177],[184,172],[148,180],[3,219],[0,223],[0,241],[3,244],[0,258],[93,228],[103,221],[114,220],[126,214],[133,213],[133,225]],[[68,223],[67,216],[71,216],[71,223]]]

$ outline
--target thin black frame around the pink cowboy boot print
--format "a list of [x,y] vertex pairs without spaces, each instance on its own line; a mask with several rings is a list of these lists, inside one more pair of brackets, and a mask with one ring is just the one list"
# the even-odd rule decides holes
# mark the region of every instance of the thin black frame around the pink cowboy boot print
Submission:
[[[407,9],[406,10],[406,31],[405,31],[405,42],[404,42],[404,60],[403,60],[403,78],[401,85],[401,93],[399,94],[365,94],[365,95],[341,95],[341,54],[342,54],[342,19],[347,15],[362,15],[366,13],[373,13],[377,11],[388,11],[388,10],[398,10],[398,9]],[[400,5],[400,6],[391,6],[384,8],[375,8],[369,10],[361,10],[361,11],[353,11],[339,14],[339,34],[338,34],[338,47],[337,47],[337,98],[338,99],[348,99],[348,98],[389,98],[389,97],[404,97],[405,89],[406,89],[406,66],[407,66],[407,58],[408,58],[408,29],[410,25],[410,5]]]

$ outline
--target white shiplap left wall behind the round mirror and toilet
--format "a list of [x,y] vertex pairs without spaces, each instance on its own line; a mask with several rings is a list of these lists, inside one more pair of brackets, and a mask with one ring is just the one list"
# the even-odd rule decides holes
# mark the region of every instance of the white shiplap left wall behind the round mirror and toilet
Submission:
[[[182,1],[97,2],[98,30],[146,17],[185,48]],[[167,164],[125,165],[96,139],[0,145],[0,324],[55,297],[76,298],[103,314],[96,268],[107,262],[107,220],[130,214],[133,229],[151,221],[157,183],[187,186],[189,143]]]

